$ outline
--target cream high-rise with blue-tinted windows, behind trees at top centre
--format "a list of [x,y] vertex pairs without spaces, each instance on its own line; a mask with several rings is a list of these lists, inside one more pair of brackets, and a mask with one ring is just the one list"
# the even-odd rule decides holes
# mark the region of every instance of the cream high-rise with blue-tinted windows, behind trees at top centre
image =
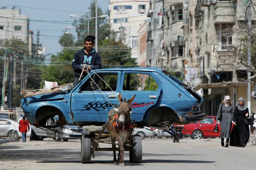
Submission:
[[138,57],[138,30],[147,19],[149,0],[110,0],[110,25],[117,38],[131,47]]

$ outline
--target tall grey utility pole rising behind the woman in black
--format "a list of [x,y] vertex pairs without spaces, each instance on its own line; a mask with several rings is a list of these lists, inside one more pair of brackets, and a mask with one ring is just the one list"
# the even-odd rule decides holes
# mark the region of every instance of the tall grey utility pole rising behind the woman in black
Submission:
[[251,25],[252,25],[252,21],[251,21],[251,1],[249,1],[247,16],[248,16],[247,107],[249,109],[249,115],[250,115],[251,114],[251,79],[249,79],[249,78],[251,77],[251,72],[250,72],[249,65],[251,65]]

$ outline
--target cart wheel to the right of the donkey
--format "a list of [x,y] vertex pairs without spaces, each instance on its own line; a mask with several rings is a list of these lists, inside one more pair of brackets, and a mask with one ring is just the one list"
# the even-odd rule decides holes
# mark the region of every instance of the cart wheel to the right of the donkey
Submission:
[[130,162],[131,163],[141,163],[142,162],[142,141],[140,135],[133,135],[135,140],[133,146],[130,149]]

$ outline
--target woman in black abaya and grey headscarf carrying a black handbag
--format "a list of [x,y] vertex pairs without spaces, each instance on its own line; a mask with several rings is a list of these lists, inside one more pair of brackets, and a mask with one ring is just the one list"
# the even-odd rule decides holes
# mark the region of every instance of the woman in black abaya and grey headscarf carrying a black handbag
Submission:
[[230,146],[245,147],[249,137],[249,125],[245,125],[244,118],[249,117],[249,110],[245,105],[244,98],[240,97],[234,110],[234,127],[230,136]]

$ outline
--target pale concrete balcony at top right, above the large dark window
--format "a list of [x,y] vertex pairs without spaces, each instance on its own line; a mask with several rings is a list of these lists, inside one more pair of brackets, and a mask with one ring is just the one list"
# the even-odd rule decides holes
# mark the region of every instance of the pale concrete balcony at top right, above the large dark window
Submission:
[[236,8],[233,2],[217,1],[212,13],[215,24],[235,22]]

